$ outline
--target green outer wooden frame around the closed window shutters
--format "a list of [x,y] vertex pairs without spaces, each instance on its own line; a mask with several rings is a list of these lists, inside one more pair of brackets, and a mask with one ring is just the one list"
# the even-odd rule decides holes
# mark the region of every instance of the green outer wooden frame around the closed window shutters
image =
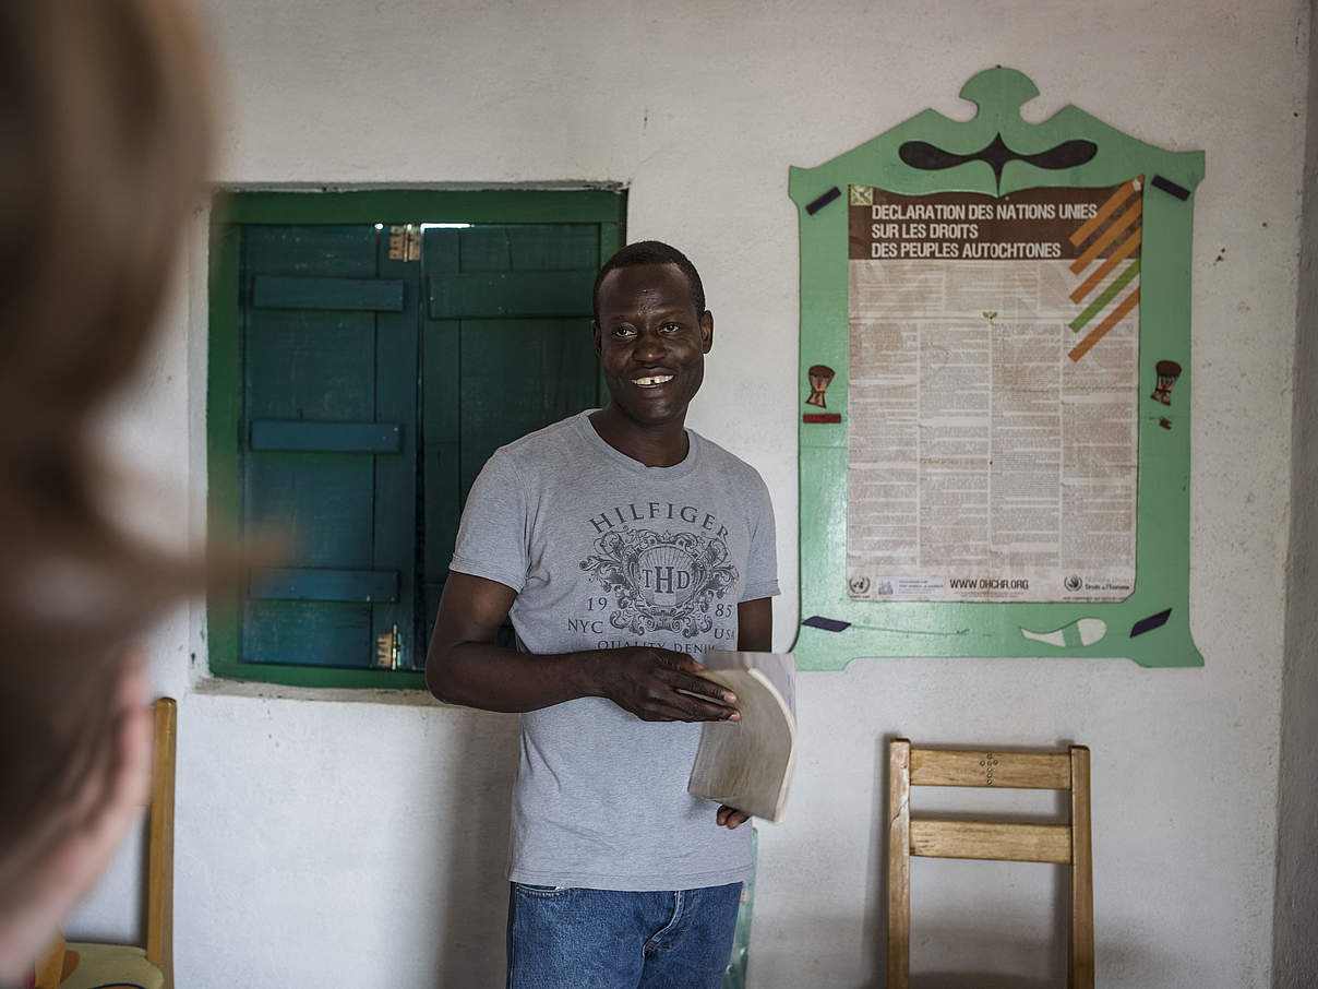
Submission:
[[[573,189],[217,190],[211,202],[210,220],[207,538],[219,545],[241,531],[241,224],[598,223],[601,258],[605,258],[623,244],[626,208],[626,190],[613,185]],[[239,658],[240,601],[241,587],[220,588],[207,595],[207,665],[214,678],[290,687],[426,688],[426,675],[416,670],[244,662]]]

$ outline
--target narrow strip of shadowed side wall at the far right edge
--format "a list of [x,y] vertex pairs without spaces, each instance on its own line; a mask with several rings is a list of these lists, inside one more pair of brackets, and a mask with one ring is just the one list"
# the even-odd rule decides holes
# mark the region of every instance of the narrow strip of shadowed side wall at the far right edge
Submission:
[[[1318,20],[1310,20],[1310,50]],[[1309,66],[1309,104],[1318,71]],[[1281,793],[1273,985],[1318,985],[1318,121],[1309,116],[1296,334],[1296,404],[1290,472],[1290,560],[1281,700]]]

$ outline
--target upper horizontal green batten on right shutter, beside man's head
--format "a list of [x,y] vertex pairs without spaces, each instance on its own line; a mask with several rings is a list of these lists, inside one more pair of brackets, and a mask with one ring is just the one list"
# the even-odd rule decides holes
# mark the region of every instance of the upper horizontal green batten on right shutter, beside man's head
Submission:
[[431,319],[590,315],[593,270],[432,274]]

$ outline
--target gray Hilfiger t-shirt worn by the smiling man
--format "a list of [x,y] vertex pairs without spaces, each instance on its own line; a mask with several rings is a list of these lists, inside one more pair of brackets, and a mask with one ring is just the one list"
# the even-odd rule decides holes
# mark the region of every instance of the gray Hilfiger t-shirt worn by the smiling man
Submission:
[[[737,604],[778,593],[774,512],[753,467],[687,430],[646,467],[589,411],[500,448],[476,479],[452,570],[517,591],[518,647],[737,647]],[[509,878],[677,890],[750,876],[750,828],[687,793],[700,725],[580,698],[522,715]]]

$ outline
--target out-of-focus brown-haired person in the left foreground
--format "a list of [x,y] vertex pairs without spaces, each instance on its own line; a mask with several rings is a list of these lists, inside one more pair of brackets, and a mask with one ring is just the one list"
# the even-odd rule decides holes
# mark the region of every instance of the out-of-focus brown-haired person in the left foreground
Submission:
[[202,65],[175,0],[0,4],[0,984],[134,820],[150,713],[127,642],[204,580],[111,518],[95,433],[202,189]]

